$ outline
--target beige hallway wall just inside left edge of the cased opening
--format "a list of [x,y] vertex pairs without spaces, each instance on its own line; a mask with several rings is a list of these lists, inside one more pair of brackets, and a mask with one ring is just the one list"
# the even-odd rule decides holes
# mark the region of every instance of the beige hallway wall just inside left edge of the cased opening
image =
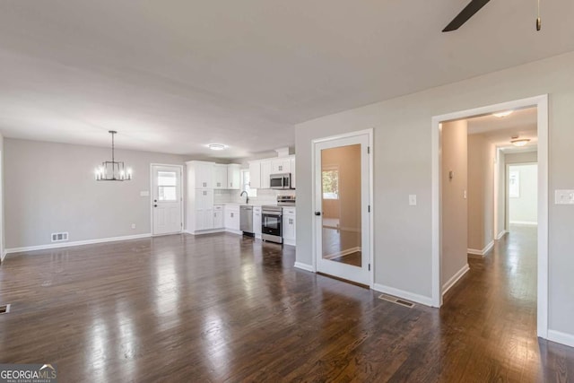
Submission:
[[[468,265],[466,257],[468,199],[465,191],[468,183],[467,170],[467,123],[466,120],[442,124],[442,262],[440,285],[443,291],[451,278]],[[452,178],[450,172],[452,171]]]

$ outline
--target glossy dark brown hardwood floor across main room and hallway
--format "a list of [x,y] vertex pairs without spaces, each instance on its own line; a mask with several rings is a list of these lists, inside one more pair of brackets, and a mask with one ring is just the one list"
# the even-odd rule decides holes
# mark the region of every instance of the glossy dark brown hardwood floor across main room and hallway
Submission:
[[531,241],[510,233],[473,259],[440,310],[231,234],[12,256],[0,362],[55,363],[61,382],[574,381],[574,349],[535,336]]

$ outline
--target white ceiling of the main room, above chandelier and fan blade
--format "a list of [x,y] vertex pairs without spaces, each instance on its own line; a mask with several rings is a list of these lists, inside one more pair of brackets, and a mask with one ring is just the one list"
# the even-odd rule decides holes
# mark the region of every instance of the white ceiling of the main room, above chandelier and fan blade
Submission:
[[574,50],[574,2],[50,0],[0,3],[0,132],[244,157],[292,126]]

